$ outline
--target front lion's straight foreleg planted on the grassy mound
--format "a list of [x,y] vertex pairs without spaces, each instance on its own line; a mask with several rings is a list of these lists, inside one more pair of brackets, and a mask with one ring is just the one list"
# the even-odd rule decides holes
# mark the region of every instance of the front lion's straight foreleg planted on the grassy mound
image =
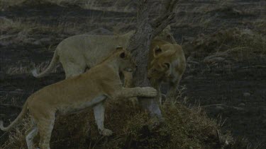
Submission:
[[95,105],[93,109],[99,133],[103,136],[111,136],[113,132],[109,129],[104,128],[104,102],[100,102],[99,104]]

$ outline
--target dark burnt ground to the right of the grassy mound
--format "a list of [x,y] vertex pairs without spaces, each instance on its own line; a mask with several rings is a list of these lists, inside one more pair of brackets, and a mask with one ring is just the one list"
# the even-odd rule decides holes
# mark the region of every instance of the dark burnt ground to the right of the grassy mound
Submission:
[[254,145],[266,141],[266,68],[253,66],[236,64],[230,72],[223,71],[226,68],[188,71],[186,76],[194,73],[193,77],[181,84],[186,85],[189,103],[200,104],[211,117],[225,119],[225,129]]

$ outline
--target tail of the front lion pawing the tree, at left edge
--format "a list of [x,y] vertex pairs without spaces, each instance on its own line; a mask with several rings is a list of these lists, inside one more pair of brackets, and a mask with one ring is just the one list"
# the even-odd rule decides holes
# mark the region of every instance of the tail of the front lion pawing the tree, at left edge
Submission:
[[18,115],[18,117],[16,117],[16,119],[14,121],[12,121],[12,123],[7,126],[7,127],[4,127],[4,123],[2,120],[0,120],[0,129],[2,131],[10,131],[10,129],[12,129],[14,126],[16,126],[18,124],[18,122],[20,122],[24,117],[25,115],[27,114],[28,112],[28,102],[26,101],[25,104],[23,105],[23,108],[22,108],[22,111],[21,113]]

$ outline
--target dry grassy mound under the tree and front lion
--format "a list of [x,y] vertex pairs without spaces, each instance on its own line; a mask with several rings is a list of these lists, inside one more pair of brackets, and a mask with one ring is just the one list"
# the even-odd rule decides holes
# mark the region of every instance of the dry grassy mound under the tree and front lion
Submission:
[[[106,107],[105,126],[113,136],[99,135],[93,112],[88,109],[57,118],[51,148],[222,148],[223,142],[232,141],[231,136],[217,133],[220,128],[216,121],[199,108],[180,104],[162,107],[165,121],[156,125],[156,119],[150,119],[131,102],[107,102]],[[28,126],[23,123],[12,131],[2,148],[26,148],[23,131]]]

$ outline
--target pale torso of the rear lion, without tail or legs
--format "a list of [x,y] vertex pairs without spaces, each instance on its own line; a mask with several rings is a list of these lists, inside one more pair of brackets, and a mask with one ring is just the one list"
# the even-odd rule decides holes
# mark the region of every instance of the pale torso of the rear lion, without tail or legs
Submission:
[[[128,45],[128,37],[123,35],[74,35],[63,40],[57,46],[60,59],[85,61],[90,67],[99,64],[113,49]],[[62,62],[62,61],[61,61]]]

